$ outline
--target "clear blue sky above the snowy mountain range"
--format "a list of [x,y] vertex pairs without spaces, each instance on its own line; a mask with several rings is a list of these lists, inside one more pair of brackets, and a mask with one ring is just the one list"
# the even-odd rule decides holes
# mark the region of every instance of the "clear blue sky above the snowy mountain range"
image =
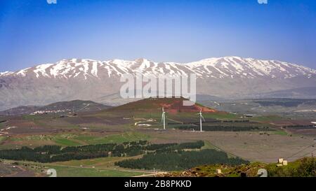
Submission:
[[0,0],[0,71],[67,58],[279,59],[316,69],[316,1]]

